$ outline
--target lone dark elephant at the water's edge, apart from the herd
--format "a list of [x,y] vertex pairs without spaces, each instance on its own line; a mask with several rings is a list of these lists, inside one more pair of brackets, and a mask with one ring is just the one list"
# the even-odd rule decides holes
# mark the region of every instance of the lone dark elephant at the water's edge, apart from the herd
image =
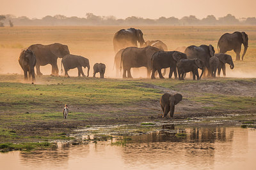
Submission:
[[177,93],[175,95],[165,93],[160,99],[160,105],[164,112],[163,118],[166,117],[170,111],[170,117],[173,117],[175,105],[182,101],[182,95]]

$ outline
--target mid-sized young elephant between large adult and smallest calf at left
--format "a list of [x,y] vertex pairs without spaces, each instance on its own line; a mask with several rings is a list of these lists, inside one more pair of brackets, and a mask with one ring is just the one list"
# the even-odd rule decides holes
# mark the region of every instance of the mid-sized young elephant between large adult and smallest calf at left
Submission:
[[78,69],[78,76],[85,76],[83,72],[82,67],[87,67],[87,76],[89,76],[89,71],[90,71],[90,63],[89,60],[86,59],[85,57],[82,57],[80,55],[72,55],[68,54],[63,57],[61,60],[61,73],[62,73],[62,64],[65,69],[65,76],[68,76],[68,70],[74,69],[77,67]]

